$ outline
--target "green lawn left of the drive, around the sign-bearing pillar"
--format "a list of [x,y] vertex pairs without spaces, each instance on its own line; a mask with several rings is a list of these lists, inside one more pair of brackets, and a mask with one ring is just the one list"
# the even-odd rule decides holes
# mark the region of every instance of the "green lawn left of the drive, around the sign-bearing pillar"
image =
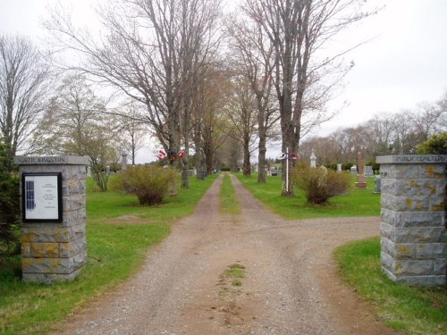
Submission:
[[156,207],[141,207],[137,197],[114,191],[94,192],[89,182],[86,268],[70,283],[24,284],[20,257],[0,258],[0,334],[45,333],[73,309],[129,278],[148,247],[169,234],[173,221],[192,213],[215,177],[191,178],[190,189]]

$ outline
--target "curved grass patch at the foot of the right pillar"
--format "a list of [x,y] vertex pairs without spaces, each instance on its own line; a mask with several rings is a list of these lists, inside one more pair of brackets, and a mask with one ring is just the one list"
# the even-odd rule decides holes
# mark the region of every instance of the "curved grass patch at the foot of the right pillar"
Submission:
[[380,267],[380,239],[351,242],[335,251],[342,278],[405,334],[447,334],[447,289],[409,287],[388,280]]

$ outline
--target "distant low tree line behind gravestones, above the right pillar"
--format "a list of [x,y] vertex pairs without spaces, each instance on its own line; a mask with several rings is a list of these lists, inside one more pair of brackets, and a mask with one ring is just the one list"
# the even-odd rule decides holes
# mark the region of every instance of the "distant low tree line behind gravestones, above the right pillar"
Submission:
[[378,113],[357,127],[342,128],[326,137],[306,138],[299,152],[303,159],[308,159],[314,151],[322,165],[356,164],[361,152],[364,161],[372,165],[379,155],[417,154],[422,150],[418,150],[421,143],[446,130],[447,92],[433,103],[421,103],[400,113]]

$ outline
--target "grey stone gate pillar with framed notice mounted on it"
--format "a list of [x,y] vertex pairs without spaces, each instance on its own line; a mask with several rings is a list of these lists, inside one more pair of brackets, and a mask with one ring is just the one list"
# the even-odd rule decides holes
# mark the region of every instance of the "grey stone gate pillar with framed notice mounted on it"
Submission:
[[17,156],[22,280],[72,281],[87,263],[86,165],[78,156]]

